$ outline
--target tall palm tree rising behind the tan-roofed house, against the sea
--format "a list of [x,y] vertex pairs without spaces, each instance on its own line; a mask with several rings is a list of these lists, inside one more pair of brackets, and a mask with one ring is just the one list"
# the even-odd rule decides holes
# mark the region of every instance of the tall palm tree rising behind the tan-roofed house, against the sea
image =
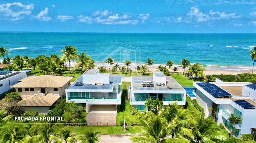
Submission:
[[76,47],[73,46],[65,46],[65,50],[61,49],[62,51],[60,51],[60,53],[63,53],[61,55],[61,59],[66,59],[67,61],[69,61],[69,73],[71,74],[71,61],[72,59],[74,59],[76,56],[78,56],[76,54],[77,50]]

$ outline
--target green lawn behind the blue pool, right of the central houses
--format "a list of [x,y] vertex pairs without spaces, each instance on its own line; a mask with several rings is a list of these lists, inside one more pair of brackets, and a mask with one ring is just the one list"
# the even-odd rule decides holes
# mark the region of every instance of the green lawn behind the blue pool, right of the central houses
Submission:
[[186,78],[182,74],[179,74],[179,75],[172,74],[172,77],[183,87],[194,87],[193,82],[198,81],[198,80]]

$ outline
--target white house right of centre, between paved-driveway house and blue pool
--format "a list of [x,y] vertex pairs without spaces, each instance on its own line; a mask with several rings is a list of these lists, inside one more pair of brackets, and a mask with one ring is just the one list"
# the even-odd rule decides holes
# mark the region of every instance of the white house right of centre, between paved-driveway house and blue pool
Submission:
[[153,73],[153,76],[132,76],[130,104],[140,111],[144,111],[146,100],[159,98],[164,105],[176,102],[186,104],[186,90],[171,76],[162,72]]

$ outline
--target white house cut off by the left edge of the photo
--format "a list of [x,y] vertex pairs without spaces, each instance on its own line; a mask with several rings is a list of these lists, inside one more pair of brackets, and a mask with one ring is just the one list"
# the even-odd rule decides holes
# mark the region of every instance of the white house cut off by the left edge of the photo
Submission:
[[0,99],[8,92],[14,90],[11,86],[20,79],[27,77],[26,71],[0,71]]

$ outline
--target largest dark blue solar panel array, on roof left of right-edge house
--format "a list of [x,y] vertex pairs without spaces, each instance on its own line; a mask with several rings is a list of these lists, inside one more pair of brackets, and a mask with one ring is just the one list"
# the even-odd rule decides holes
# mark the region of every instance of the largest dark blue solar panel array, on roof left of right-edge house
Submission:
[[211,96],[213,96],[214,98],[231,96],[230,93],[226,92],[225,90],[221,89],[220,87],[214,84],[211,84],[210,82],[198,82],[196,84],[199,87],[202,87],[206,92],[211,94]]

